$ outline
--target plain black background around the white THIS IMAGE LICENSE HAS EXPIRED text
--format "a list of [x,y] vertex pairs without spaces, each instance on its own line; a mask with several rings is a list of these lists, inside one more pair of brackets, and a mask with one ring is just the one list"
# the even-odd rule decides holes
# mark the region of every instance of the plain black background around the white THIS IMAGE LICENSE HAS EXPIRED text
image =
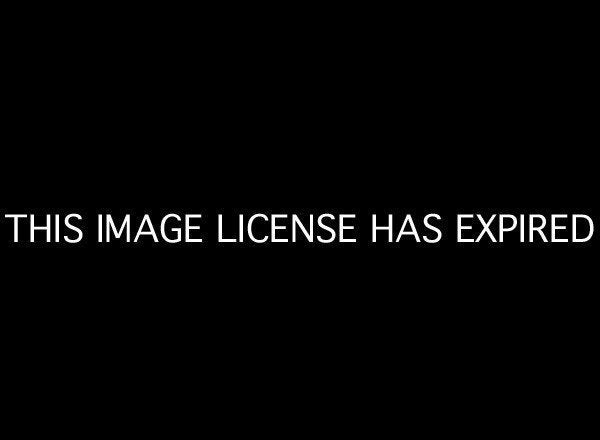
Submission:
[[[592,29],[539,11],[247,12],[30,11],[3,55],[2,213],[356,212],[361,243],[5,240],[12,413],[572,429],[594,389],[597,238],[460,246],[453,218],[597,221]],[[368,244],[371,213],[428,212],[440,245]]]

